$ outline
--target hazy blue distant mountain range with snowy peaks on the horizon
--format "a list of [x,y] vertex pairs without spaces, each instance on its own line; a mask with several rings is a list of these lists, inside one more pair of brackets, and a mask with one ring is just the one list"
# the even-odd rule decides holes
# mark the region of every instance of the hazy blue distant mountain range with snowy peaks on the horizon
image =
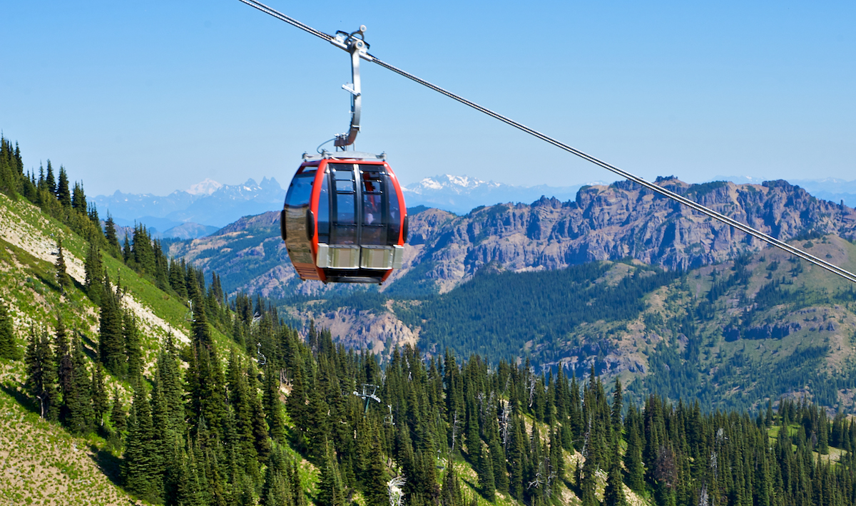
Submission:
[[[760,184],[762,179],[747,176],[716,176],[711,181],[727,180],[735,184]],[[841,179],[800,179],[792,181],[814,197],[856,207],[856,181]],[[442,174],[405,185],[407,207],[425,206],[443,209],[455,215],[466,215],[479,206],[496,203],[533,203],[540,197],[553,197],[560,202],[577,198],[580,188],[603,185],[592,181],[573,186],[517,186],[484,181],[468,176]],[[94,198],[102,215],[109,212],[117,224],[125,227],[144,223],[155,237],[190,239],[216,232],[242,216],[259,215],[282,208],[285,189],[276,179],[260,183],[247,179],[243,185],[223,185],[205,179],[187,191],[173,191],[167,196],[138,195],[116,191],[113,195]]]

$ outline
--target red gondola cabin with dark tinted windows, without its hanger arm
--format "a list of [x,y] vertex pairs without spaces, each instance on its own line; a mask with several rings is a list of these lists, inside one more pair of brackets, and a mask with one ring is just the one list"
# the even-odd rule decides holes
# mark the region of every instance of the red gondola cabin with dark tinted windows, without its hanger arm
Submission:
[[280,217],[300,279],[383,283],[401,268],[407,208],[383,156],[354,151],[304,156]]

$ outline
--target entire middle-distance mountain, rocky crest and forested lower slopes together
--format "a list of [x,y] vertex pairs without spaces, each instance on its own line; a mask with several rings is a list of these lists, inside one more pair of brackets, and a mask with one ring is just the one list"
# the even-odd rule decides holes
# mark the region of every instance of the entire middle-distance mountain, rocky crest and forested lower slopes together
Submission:
[[[853,209],[783,181],[659,184],[856,268]],[[294,286],[281,305],[289,321],[317,321],[387,359],[418,343],[490,363],[528,358],[538,370],[594,365],[637,398],[698,398],[711,409],[782,395],[853,405],[851,287],[629,183],[585,188],[570,203],[422,210],[405,267],[377,292],[316,294],[320,284],[297,282],[277,220],[247,217],[170,251],[222,274],[227,292]]]

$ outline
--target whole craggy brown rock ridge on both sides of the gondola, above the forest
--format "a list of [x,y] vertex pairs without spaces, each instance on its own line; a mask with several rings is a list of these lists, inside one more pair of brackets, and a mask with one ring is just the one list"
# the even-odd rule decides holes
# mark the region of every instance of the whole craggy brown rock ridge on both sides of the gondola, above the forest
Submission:
[[[818,200],[785,181],[687,185],[660,178],[657,184],[782,240],[817,234],[856,238],[856,211]],[[297,279],[279,238],[278,219],[276,212],[242,218],[211,237],[171,244],[169,254],[216,271],[229,293],[286,297],[342,292]],[[565,203],[542,198],[531,205],[473,209],[463,216],[437,209],[411,215],[404,267],[382,291],[405,297],[449,291],[489,264],[514,271],[551,270],[633,258],[687,270],[762,246],[625,181],[584,187],[575,201]]]

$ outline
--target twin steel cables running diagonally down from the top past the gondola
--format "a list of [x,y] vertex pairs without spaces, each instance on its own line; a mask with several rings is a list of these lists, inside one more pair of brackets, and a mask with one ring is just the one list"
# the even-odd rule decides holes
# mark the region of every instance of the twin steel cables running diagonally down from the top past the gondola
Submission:
[[[330,42],[330,44],[334,44],[337,47],[340,47],[342,49],[347,49],[344,47],[343,44],[338,43],[338,41],[336,41],[336,38],[334,38],[333,36],[327,35],[324,32],[319,32],[318,30],[315,30],[311,26],[307,26],[307,25],[301,23],[300,21],[294,20],[294,18],[291,18],[287,15],[284,15],[284,14],[276,11],[275,9],[271,9],[270,7],[266,6],[264,3],[259,3],[259,2],[256,2],[255,0],[240,0],[240,1],[243,3],[247,3],[247,5],[250,5],[250,6],[254,7],[255,9],[259,9],[260,11],[265,12],[266,14],[272,15],[278,20],[285,21],[290,25],[297,26],[301,30],[305,30],[306,32],[310,32],[310,33],[312,33],[312,35],[315,35],[318,38],[323,38],[324,40]],[[464,97],[461,97],[459,95],[455,95],[455,93],[452,93],[451,91],[444,90],[440,86],[433,85],[430,82],[426,81],[425,79],[420,79],[419,77],[417,77],[413,74],[410,74],[410,73],[402,70],[401,68],[397,68],[394,65],[391,65],[387,62],[383,62],[382,60],[378,59],[376,56],[372,56],[372,54],[370,54],[370,53],[366,52],[360,56],[368,62],[377,63],[377,65],[380,65],[381,67],[386,68],[387,70],[390,70],[390,71],[394,72],[395,74],[399,74],[403,77],[406,77],[407,79],[411,79],[411,80],[419,83],[420,85],[423,85],[427,88],[431,88],[431,90],[437,91],[438,93],[442,93],[446,97],[452,98],[453,100],[456,100],[460,103],[463,103],[464,105],[467,105],[468,107],[476,109],[479,112],[484,113],[485,115],[489,115],[490,117],[495,118],[496,120],[502,121],[503,123],[507,123],[508,125],[510,125],[514,128],[520,129],[523,132],[526,132],[529,135],[532,135],[533,137],[537,137],[546,143],[553,144],[554,146],[556,146],[560,150],[568,151],[568,153],[571,153],[575,156],[579,156],[580,158],[587,160],[588,162],[594,163],[595,165],[600,166],[602,168],[605,168],[605,169],[609,170],[610,172],[618,174],[622,178],[629,179],[638,185],[641,185],[641,186],[644,186],[645,188],[648,188],[651,191],[656,191],[660,195],[663,195],[663,197],[669,197],[669,198],[671,198],[671,199],[673,199],[679,203],[686,205],[690,209],[694,209],[694,210],[698,211],[699,213],[701,213],[703,215],[710,216],[710,218],[713,218],[717,221],[722,221],[722,223],[725,223],[726,225],[734,227],[737,230],[740,230],[740,232],[744,232],[746,234],[749,234],[754,238],[758,238],[758,239],[764,241],[765,243],[776,246],[776,248],[779,248],[781,250],[785,250],[794,256],[799,256],[803,260],[805,260],[807,262],[811,262],[814,265],[817,265],[817,267],[819,267],[819,268],[826,269],[832,274],[837,274],[838,276],[841,276],[841,278],[844,278],[844,279],[847,279],[849,281],[853,281],[853,283],[856,283],[856,274],[851,273],[847,269],[840,268],[840,267],[836,266],[835,264],[826,262],[825,260],[818,258],[817,256],[813,256],[809,253],[806,253],[805,251],[800,250],[799,248],[796,248],[796,247],[792,246],[791,244],[788,244],[788,243],[786,243],[780,239],[774,238],[770,234],[767,234],[767,233],[761,232],[759,230],[756,230],[752,227],[749,227],[745,223],[740,223],[740,221],[736,221],[733,218],[730,218],[726,215],[722,215],[721,213],[718,213],[713,209],[706,208],[702,204],[694,202],[693,200],[690,200],[687,197],[684,197],[678,193],[675,193],[674,191],[670,191],[666,188],[663,188],[660,185],[656,185],[654,183],[651,183],[650,181],[646,181],[645,179],[642,179],[639,176],[630,174],[629,172],[627,172],[621,168],[617,168],[614,165],[610,165],[607,162],[603,162],[603,160],[600,160],[599,158],[591,156],[591,155],[589,155],[583,151],[580,151],[580,150],[578,150],[578,149],[576,149],[576,148],[574,148],[568,144],[564,144],[561,141],[559,141],[555,138],[551,138],[550,136],[548,136],[544,133],[538,132],[537,130],[534,130],[530,127],[526,127],[526,125],[518,123],[517,121],[514,121],[511,118],[508,118],[507,116],[503,116],[503,115],[496,113],[490,109],[484,108],[484,107],[480,106],[478,103],[471,102]]]

